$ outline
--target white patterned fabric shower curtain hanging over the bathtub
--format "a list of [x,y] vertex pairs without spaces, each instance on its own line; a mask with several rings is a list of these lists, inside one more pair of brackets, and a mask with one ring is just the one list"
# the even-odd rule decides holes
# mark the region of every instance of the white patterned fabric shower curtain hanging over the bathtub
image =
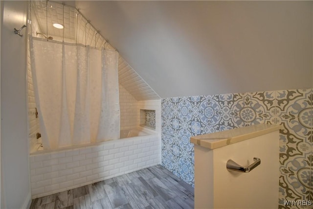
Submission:
[[30,36],[44,149],[118,139],[118,53]]

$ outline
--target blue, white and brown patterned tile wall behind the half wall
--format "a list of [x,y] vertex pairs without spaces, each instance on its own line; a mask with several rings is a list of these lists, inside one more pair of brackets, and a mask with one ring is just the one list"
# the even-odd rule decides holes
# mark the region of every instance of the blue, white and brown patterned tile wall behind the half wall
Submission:
[[194,185],[191,136],[258,123],[281,124],[280,208],[313,200],[312,89],[163,98],[162,165]]

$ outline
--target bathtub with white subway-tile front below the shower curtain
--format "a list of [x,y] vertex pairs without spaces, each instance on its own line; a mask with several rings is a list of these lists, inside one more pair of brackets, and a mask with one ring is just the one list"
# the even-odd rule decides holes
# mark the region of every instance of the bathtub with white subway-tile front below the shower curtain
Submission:
[[160,134],[138,127],[120,139],[29,156],[32,199],[85,186],[161,163]]

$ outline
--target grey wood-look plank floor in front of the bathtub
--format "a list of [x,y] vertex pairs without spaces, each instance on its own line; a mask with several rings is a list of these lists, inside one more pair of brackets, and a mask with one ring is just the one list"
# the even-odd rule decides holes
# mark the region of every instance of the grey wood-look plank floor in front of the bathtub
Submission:
[[161,165],[32,200],[30,209],[193,209],[194,188]]

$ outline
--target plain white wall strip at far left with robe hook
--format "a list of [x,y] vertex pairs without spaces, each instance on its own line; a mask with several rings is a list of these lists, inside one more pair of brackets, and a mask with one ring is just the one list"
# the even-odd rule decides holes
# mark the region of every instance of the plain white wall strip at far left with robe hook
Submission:
[[1,1],[1,208],[24,208],[30,202],[27,110],[27,1]]

